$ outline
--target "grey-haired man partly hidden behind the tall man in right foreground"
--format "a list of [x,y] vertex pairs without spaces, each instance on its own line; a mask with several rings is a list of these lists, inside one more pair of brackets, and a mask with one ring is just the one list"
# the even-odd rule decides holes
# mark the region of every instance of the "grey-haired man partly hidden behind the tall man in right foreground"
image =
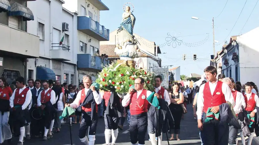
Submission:
[[[233,106],[233,109],[238,115],[239,112],[241,112],[242,105],[245,108],[245,98],[243,94],[237,90],[234,89],[234,83],[232,83],[231,78],[226,77],[222,79],[223,83],[226,83],[229,88],[231,89],[231,93],[233,95],[234,101],[235,101],[235,106]],[[229,145],[235,145],[236,144],[236,139],[237,139],[237,133],[238,133],[238,128],[234,126],[229,127],[229,135],[228,135],[228,144]]]

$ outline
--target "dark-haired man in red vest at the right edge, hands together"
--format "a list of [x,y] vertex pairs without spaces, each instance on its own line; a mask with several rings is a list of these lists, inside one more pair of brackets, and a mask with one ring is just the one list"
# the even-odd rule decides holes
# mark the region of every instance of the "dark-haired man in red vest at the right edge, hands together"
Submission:
[[[252,85],[250,83],[245,84],[245,93],[244,94],[245,94],[244,97],[245,97],[245,103],[246,103],[245,110],[246,110],[247,114],[250,114],[251,121],[252,121],[253,117],[256,118],[257,110],[255,109],[255,107],[256,106],[259,107],[259,98],[256,94],[254,94],[252,92]],[[252,121],[252,122],[254,122],[254,121]],[[249,130],[251,132],[251,136],[249,136],[249,139],[247,141],[248,145],[252,144],[252,140],[254,137],[254,127],[255,127],[255,123],[252,123],[249,125]],[[242,143],[245,144],[245,137],[243,136],[242,133],[240,133],[240,136],[241,136]]]

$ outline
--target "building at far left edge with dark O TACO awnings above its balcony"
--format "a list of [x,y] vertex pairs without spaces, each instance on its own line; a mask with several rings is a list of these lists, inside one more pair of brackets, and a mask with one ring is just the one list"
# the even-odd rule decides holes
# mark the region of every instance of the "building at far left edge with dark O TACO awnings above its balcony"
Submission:
[[39,37],[30,33],[28,22],[35,22],[26,0],[0,1],[0,73],[8,83],[19,76],[28,79],[28,58],[39,57]]

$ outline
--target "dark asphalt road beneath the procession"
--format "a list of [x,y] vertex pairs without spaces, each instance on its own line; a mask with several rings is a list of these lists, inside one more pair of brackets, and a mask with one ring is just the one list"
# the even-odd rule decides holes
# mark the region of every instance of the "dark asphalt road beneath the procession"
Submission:
[[[191,108],[191,104],[187,105],[188,112],[185,114],[184,119],[181,121],[181,132],[179,135],[180,141],[169,141],[170,145],[178,144],[178,145],[198,145],[201,144],[199,138],[199,130],[197,129],[197,121],[193,119],[193,110]],[[119,130],[119,135],[116,141],[116,145],[130,145],[129,139],[129,124],[125,121],[123,126],[123,131]],[[83,145],[78,138],[78,130],[79,124],[73,124],[71,127],[72,133],[72,142],[76,145]],[[99,119],[97,131],[96,131],[96,145],[102,145],[105,143],[104,138],[104,119]],[[170,134],[169,134],[170,138]],[[12,144],[17,144],[18,137],[14,137],[12,140]],[[239,140],[239,142],[241,142]],[[53,138],[43,141],[41,138],[32,138],[31,140],[26,140],[24,145],[68,145],[71,144],[70,141],[70,131],[68,124],[65,124],[60,129],[60,133],[55,133]],[[146,136],[146,145],[151,145],[148,141],[148,137]],[[166,134],[163,134],[163,145],[167,145]],[[258,138],[254,137],[253,145],[259,144]],[[7,142],[4,142],[3,145],[7,145]]]

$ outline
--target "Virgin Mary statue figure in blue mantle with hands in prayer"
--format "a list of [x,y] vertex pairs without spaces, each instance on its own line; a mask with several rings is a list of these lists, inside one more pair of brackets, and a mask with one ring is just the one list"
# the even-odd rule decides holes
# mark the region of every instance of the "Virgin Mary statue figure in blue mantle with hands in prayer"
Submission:
[[122,32],[122,40],[121,43],[125,43],[127,41],[133,42],[134,37],[133,37],[133,28],[134,24],[136,21],[135,16],[131,13],[130,7],[127,6],[125,8],[125,12],[122,14],[122,21],[121,21],[121,26],[117,29],[117,33]]

